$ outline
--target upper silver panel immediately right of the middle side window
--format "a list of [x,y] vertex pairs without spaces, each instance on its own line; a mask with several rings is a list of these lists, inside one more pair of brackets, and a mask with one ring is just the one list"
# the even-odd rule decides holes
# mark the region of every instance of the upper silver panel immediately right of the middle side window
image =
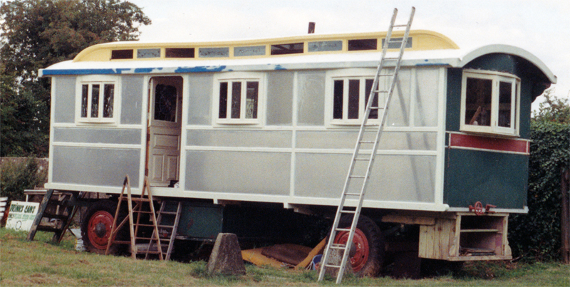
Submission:
[[267,125],[291,125],[293,113],[293,72],[268,73]]

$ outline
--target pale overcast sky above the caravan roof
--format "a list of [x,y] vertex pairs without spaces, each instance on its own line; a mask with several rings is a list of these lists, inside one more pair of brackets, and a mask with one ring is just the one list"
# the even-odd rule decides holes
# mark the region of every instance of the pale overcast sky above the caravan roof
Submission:
[[[555,95],[570,97],[569,0],[129,0],[152,20],[140,41],[226,41],[387,31],[393,9],[413,29],[437,31],[467,51],[507,44],[529,51],[556,75]],[[533,104],[536,109],[540,97]]]

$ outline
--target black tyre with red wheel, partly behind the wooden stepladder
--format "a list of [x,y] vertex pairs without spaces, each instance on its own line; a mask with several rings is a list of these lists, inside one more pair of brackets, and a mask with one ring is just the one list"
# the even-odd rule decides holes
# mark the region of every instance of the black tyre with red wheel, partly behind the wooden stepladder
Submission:
[[[110,200],[100,200],[88,207],[81,221],[81,237],[88,252],[105,254],[116,210],[117,203]],[[120,219],[122,218],[124,216],[120,216]],[[117,224],[119,223],[118,220]],[[124,231],[123,227],[117,236],[123,237]],[[110,246],[109,254],[118,254],[119,251],[120,246],[113,244]]]

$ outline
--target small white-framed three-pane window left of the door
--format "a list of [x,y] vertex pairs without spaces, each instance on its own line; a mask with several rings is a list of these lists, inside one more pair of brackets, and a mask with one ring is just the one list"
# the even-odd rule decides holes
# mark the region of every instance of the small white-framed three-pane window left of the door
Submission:
[[107,77],[89,76],[79,80],[78,122],[115,122],[117,90],[116,81]]

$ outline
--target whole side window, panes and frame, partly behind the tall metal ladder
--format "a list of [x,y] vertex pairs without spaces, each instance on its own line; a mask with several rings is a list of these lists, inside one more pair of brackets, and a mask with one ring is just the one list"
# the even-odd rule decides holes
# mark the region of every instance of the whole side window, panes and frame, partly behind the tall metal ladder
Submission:
[[[374,83],[375,71],[365,69],[341,70],[329,73],[327,77],[327,108],[331,110],[329,119],[332,124],[360,124]],[[383,77],[385,78],[385,77]],[[383,86],[380,85],[380,87]],[[383,103],[383,101],[380,101]],[[378,107],[378,93],[375,94],[373,107]],[[371,110],[369,120],[378,120],[378,110]]]

